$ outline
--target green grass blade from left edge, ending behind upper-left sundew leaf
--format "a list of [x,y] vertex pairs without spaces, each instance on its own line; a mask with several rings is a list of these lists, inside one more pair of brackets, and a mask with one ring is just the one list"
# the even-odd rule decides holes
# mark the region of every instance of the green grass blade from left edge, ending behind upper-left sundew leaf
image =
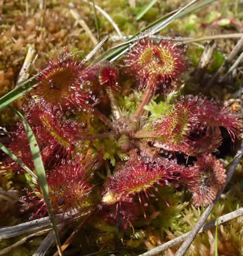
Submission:
[[34,77],[29,78],[28,80],[20,83],[18,87],[15,87],[11,92],[3,95],[0,98],[0,111],[7,107],[9,104],[17,100],[24,93],[29,92],[35,85],[29,85],[28,83],[34,80]]

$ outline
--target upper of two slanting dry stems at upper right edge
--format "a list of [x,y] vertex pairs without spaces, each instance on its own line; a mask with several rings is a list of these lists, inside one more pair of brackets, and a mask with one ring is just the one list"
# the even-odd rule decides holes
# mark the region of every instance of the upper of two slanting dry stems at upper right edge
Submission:
[[235,45],[234,49],[230,52],[229,56],[227,59],[224,61],[224,64],[217,70],[217,72],[214,74],[214,76],[209,80],[209,83],[207,83],[205,90],[210,88],[210,86],[218,80],[220,75],[224,72],[225,68],[229,63],[234,60],[235,56],[237,53],[239,53],[240,50],[242,50],[243,47],[243,34],[241,34],[241,38],[238,41],[238,43]]

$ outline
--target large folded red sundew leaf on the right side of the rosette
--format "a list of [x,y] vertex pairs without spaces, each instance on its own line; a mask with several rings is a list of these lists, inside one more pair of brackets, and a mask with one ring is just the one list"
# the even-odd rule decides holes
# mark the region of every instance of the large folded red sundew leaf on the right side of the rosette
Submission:
[[242,128],[239,115],[229,107],[192,95],[181,97],[152,126],[160,139],[154,146],[191,156],[217,151],[222,143],[219,127],[233,142]]

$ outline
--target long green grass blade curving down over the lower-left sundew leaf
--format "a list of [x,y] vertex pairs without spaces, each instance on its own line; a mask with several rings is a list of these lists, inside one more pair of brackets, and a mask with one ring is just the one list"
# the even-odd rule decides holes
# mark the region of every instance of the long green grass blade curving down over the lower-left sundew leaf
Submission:
[[61,242],[60,242],[60,238],[59,238],[58,227],[56,225],[56,221],[55,221],[55,217],[54,217],[54,213],[53,213],[53,209],[51,207],[51,201],[50,201],[50,197],[49,197],[48,183],[46,180],[46,171],[44,170],[44,164],[42,161],[41,152],[39,150],[38,143],[36,141],[36,137],[34,136],[34,133],[31,129],[31,127],[29,126],[28,122],[26,122],[23,115],[20,112],[18,112],[18,110],[14,109],[12,107],[9,107],[9,108],[14,110],[14,112],[16,112],[19,115],[19,117],[21,117],[21,119],[23,120],[24,129],[28,136],[29,146],[30,146],[31,154],[32,154],[33,161],[34,161],[34,168],[35,168],[37,176],[38,176],[39,186],[41,187],[41,191],[42,191],[43,197],[44,197],[44,203],[46,204],[49,219],[51,221],[51,226],[53,227],[53,232],[54,232],[54,236],[55,236],[55,240],[56,240],[56,246],[58,248],[59,255],[62,256],[63,252],[61,250]]

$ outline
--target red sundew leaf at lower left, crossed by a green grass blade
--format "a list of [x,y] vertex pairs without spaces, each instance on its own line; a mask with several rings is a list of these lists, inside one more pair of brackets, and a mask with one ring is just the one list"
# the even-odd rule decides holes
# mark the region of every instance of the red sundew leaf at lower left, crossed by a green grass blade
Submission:
[[[74,216],[90,210],[93,205],[91,191],[94,187],[89,182],[90,178],[91,176],[86,177],[86,168],[81,162],[69,163],[49,171],[49,199],[54,213],[61,211],[63,216],[65,213]],[[35,208],[34,217],[46,215],[46,205],[38,188],[28,191],[24,200],[31,202],[31,206]]]

